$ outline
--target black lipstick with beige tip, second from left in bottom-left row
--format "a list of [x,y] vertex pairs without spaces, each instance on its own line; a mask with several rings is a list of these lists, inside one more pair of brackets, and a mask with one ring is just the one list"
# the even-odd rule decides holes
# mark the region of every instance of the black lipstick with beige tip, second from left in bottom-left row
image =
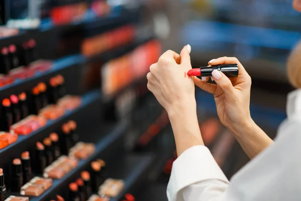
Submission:
[[13,192],[19,192],[23,184],[22,163],[19,158],[15,158],[13,160],[11,181],[12,181],[11,190]]

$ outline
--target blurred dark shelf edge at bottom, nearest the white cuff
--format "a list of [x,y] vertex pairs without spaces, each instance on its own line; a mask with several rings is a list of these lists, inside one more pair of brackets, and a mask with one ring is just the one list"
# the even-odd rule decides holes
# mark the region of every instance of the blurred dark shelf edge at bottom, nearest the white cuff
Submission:
[[[152,154],[130,154],[122,156],[112,169],[108,170],[108,178],[123,179],[125,182],[123,190],[116,197],[112,197],[110,201],[119,201],[122,196],[130,192],[132,188],[138,187],[146,177],[150,165],[154,157]],[[120,169],[120,167],[122,167]],[[118,170],[119,169],[119,170]]]

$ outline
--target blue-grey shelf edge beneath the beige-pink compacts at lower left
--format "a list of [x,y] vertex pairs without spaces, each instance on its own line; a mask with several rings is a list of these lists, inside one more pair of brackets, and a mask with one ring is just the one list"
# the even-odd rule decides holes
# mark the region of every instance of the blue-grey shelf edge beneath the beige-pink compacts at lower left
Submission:
[[[49,199],[49,197],[53,197],[56,194],[60,194],[62,189],[65,189],[69,183],[73,182],[76,178],[78,178],[81,171],[86,170],[86,168],[89,166],[91,161],[96,159],[99,154],[101,154],[106,149],[111,147],[112,143],[114,143],[119,138],[121,138],[121,136],[123,135],[127,126],[128,126],[128,124],[126,122],[117,123],[117,125],[114,126],[114,129],[111,129],[111,131],[108,132],[105,135],[105,137],[101,138],[95,144],[96,149],[95,149],[95,152],[91,156],[89,156],[87,159],[80,160],[78,163],[78,166],[75,169],[71,170],[62,179],[54,179],[53,185],[51,188],[49,188],[41,196],[32,197],[32,198],[30,198],[30,200],[31,201],[47,200],[47,198]],[[101,129],[98,129],[98,130],[101,130]],[[97,134],[98,133],[95,133],[95,135],[97,135]]]

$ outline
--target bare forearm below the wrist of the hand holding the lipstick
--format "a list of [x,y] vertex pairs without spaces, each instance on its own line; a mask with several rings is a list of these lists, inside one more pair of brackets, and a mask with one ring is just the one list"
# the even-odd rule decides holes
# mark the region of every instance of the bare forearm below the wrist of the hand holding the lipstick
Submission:
[[273,143],[273,140],[253,120],[230,130],[250,159]]

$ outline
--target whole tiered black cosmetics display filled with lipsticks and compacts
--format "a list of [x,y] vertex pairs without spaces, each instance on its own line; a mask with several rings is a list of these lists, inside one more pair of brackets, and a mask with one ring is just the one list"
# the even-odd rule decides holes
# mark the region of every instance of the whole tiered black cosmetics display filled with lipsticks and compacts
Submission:
[[174,152],[146,87],[161,44],[114,9],[0,39],[0,200],[132,201]]

